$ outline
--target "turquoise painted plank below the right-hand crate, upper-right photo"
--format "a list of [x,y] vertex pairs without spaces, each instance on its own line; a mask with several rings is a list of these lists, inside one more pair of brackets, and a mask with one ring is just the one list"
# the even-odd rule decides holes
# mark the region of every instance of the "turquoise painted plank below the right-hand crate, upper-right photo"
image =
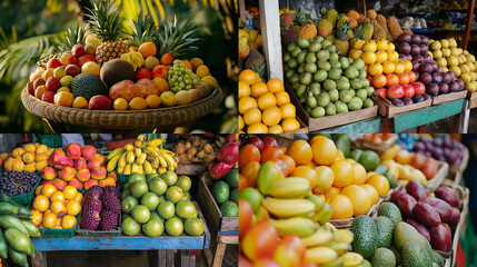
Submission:
[[454,115],[460,113],[464,99],[446,102],[425,109],[419,109],[394,117],[394,131],[401,132],[407,129],[427,125]]

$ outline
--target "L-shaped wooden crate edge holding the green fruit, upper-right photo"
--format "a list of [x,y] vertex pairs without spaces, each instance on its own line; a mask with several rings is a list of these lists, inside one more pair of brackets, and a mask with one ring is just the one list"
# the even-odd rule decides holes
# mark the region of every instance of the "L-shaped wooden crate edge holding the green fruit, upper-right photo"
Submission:
[[305,108],[301,106],[298,100],[295,91],[291,89],[290,85],[286,82],[286,90],[290,96],[291,102],[297,109],[298,117],[308,126],[309,131],[318,131],[324,129],[329,129],[337,126],[348,125],[356,121],[374,118],[378,115],[378,107],[372,106],[370,108],[350,111],[347,113],[339,113],[332,116],[325,116],[321,118],[311,118]]

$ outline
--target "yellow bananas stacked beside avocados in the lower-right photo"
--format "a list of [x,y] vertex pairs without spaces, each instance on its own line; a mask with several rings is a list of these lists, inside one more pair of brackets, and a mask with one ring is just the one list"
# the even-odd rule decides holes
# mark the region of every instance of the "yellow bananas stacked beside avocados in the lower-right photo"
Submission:
[[349,251],[352,233],[329,224],[331,214],[331,206],[311,194],[307,179],[289,177],[271,184],[257,219],[268,219],[280,237],[300,237],[307,246],[306,263],[320,267],[360,266],[362,256]]

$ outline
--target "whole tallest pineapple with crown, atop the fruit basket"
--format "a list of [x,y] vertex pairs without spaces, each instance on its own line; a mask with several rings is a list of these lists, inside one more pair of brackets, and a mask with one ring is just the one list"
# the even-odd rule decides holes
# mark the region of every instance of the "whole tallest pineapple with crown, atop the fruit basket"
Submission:
[[101,44],[96,49],[96,61],[99,66],[127,53],[128,44],[121,40],[123,34],[122,18],[119,16],[119,9],[115,2],[95,2],[93,9],[88,10],[91,12],[87,14],[90,31],[101,41]]

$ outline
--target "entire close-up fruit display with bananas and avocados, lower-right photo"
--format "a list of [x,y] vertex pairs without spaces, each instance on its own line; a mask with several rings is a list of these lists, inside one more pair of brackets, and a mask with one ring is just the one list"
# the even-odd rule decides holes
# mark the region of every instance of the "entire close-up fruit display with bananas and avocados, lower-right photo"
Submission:
[[[438,171],[434,158],[420,152],[413,155],[397,145],[379,157],[371,150],[350,149],[347,135],[315,136],[308,141],[301,138],[290,139],[289,146],[281,149],[270,140],[264,145],[255,136],[241,139],[240,265],[451,266],[455,263],[468,209],[468,189],[446,182],[439,182],[435,189],[426,188],[426,175],[436,179]],[[426,161],[430,167],[421,166]],[[339,167],[337,162],[341,162]],[[257,167],[251,168],[252,165]],[[347,165],[351,171],[347,171]],[[312,172],[298,174],[297,169],[302,167]],[[329,188],[319,191],[329,180]],[[349,185],[335,186],[345,181]],[[392,184],[397,184],[396,190],[374,212],[367,214],[365,208],[386,195],[385,189],[389,190]],[[332,220],[336,216],[352,218],[349,226],[339,228]]]

